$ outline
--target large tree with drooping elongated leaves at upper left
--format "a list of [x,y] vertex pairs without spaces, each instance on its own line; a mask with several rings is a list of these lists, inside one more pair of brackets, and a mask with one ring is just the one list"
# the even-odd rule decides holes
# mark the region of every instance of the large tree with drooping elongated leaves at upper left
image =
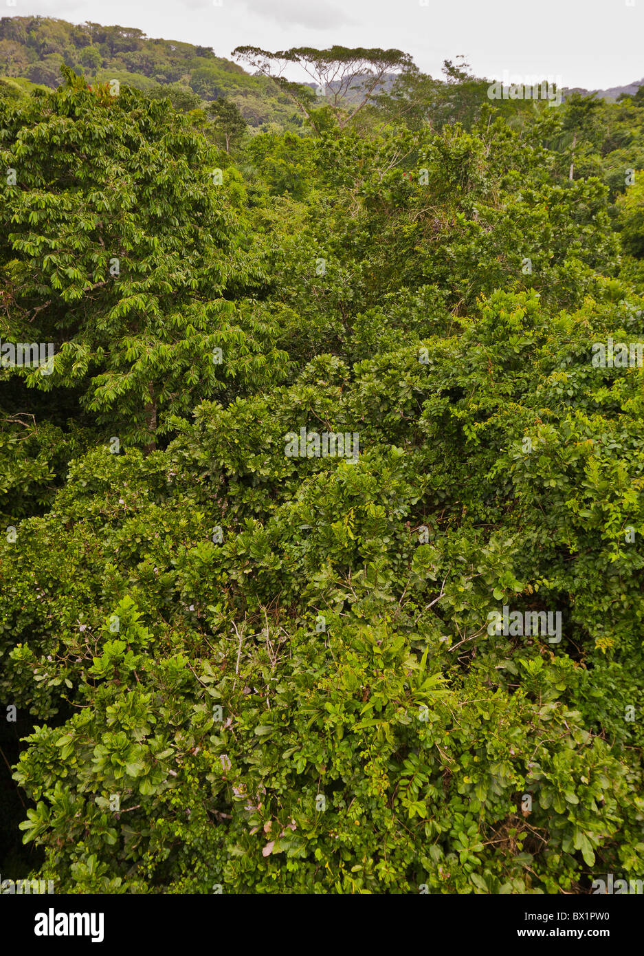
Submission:
[[[19,170],[0,197],[9,330],[53,341],[57,355],[51,375],[0,374],[46,392],[80,389],[97,424],[142,444],[195,391],[207,397],[237,377],[257,387],[261,367],[284,357],[255,357],[269,325],[225,297],[261,273],[204,136],[166,101],[75,79],[55,95],[3,102],[2,162]],[[35,312],[34,296],[46,302]],[[232,343],[222,376],[214,350]]]

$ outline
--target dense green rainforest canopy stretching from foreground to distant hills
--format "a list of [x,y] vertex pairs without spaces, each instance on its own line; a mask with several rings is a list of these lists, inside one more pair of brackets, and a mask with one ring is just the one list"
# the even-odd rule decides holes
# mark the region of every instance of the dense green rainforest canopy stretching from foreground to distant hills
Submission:
[[644,98],[494,100],[464,64],[333,48],[397,57],[396,82],[276,85],[290,128],[251,135],[114,66],[238,106],[268,78],[42,21],[68,62],[48,89],[24,19],[1,41],[0,871],[641,879]]

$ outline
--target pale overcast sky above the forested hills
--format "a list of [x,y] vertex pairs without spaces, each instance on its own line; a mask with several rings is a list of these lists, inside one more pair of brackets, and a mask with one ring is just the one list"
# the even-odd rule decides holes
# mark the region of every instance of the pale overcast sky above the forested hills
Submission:
[[396,47],[432,76],[464,54],[478,76],[499,79],[539,74],[591,89],[644,77],[644,0],[0,0],[0,11],[138,27],[228,58],[242,44],[336,43]]

